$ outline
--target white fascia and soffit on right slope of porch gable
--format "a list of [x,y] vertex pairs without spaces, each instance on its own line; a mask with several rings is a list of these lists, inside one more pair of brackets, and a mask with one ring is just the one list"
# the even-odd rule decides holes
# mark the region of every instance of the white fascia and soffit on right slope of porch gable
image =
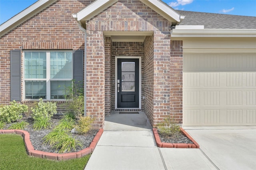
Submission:
[[141,2],[152,8],[169,21],[173,22],[173,20],[175,20],[176,22],[180,22],[181,18],[184,18],[184,16],[181,17],[177,11],[163,3],[161,0],[141,0]]

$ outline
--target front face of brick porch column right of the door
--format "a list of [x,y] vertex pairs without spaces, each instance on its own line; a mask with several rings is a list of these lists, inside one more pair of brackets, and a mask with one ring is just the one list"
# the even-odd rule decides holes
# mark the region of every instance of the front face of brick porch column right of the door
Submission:
[[154,32],[154,125],[170,115],[170,32]]

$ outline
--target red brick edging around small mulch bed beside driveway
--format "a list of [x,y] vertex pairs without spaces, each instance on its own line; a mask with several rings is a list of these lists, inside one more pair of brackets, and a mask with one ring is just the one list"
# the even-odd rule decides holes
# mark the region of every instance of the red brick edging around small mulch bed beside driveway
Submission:
[[156,140],[156,145],[159,148],[199,148],[199,144],[183,129],[180,128],[181,132],[189,138],[193,144],[186,144],[186,143],[165,143],[161,142],[159,134],[157,132],[157,128],[153,128],[153,134]]

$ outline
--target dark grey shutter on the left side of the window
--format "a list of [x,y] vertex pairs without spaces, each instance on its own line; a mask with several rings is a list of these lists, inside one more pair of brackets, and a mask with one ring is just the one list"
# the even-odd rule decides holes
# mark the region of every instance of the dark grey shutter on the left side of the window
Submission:
[[11,72],[11,81],[10,81],[10,98],[11,101],[21,101],[21,51],[20,50],[11,50],[10,51],[10,72]]

